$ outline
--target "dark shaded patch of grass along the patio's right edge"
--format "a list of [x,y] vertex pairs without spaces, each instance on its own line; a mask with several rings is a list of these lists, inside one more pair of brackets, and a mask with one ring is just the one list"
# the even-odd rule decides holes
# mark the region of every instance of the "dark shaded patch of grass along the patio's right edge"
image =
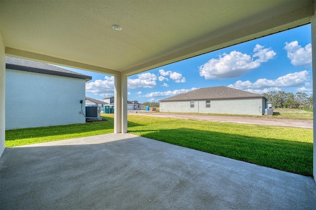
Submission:
[[[248,137],[188,128],[131,131],[160,140],[236,160],[291,173],[313,176],[313,143]],[[144,134],[142,134],[144,132]]]

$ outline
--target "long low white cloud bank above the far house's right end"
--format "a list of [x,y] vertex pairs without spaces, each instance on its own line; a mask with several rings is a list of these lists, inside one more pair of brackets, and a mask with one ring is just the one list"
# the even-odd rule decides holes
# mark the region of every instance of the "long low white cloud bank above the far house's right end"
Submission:
[[309,72],[307,70],[289,73],[284,76],[280,76],[276,79],[258,79],[255,82],[238,80],[234,84],[230,84],[228,87],[247,90],[247,89],[262,89],[262,88],[281,88],[281,87],[297,87],[304,85],[310,80]]

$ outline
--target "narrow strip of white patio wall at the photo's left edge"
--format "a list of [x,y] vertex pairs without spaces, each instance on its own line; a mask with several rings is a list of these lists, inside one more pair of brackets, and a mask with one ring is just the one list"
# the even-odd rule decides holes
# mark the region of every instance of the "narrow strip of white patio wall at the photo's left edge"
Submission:
[[5,48],[0,34],[0,156],[5,141]]

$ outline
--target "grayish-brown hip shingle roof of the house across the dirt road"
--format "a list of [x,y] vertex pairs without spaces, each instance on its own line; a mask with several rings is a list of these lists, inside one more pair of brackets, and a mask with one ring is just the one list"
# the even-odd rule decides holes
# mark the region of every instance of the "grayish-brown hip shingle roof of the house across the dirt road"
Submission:
[[218,86],[193,90],[187,93],[181,93],[177,96],[162,99],[160,102],[168,101],[190,101],[190,100],[208,100],[208,99],[242,99],[242,98],[265,98],[265,96],[249,93],[243,90],[237,90],[230,87]]

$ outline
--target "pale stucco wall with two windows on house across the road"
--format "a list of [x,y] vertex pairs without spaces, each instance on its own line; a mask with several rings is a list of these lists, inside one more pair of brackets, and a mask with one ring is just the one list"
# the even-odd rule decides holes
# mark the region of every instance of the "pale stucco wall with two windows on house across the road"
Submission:
[[196,100],[194,108],[190,108],[190,101],[160,102],[160,111],[262,115],[263,101],[262,98],[210,100],[210,108],[206,108],[206,100]]

